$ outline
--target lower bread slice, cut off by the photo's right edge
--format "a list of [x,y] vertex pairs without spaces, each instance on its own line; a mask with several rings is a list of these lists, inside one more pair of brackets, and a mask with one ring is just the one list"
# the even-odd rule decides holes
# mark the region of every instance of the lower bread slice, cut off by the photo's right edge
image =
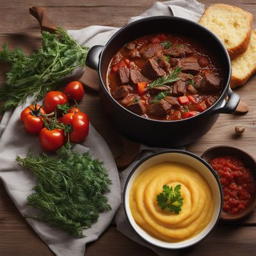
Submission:
[[248,49],[243,54],[231,61],[232,76],[231,88],[243,85],[256,71],[256,30],[252,36]]

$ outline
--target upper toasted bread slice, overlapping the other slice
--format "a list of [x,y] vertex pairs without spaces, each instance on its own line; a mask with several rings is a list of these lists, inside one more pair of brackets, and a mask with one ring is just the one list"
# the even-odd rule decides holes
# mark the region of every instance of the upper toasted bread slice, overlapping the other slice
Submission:
[[251,37],[252,13],[236,6],[212,4],[199,24],[211,30],[223,42],[230,58],[246,51]]

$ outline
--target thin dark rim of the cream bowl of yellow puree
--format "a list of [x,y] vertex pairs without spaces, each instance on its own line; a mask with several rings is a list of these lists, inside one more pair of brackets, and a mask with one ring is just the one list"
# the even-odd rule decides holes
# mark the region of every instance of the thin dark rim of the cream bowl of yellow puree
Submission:
[[[183,247],[180,247],[180,248],[166,248],[166,247],[162,247],[162,246],[158,246],[157,244],[154,244],[154,243],[151,243],[150,241],[148,241],[147,239],[145,239],[143,236],[141,236],[137,230],[132,226],[132,223],[131,221],[129,220],[129,217],[128,217],[128,214],[127,214],[127,209],[125,207],[125,195],[126,195],[126,192],[127,192],[127,186],[129,184],[129,181],[133,175],[134,172],[136,172],[137,168],[143,164],[145,161],[147,161],[148,159],[150,159],[151,157],[154,157],[154,156],[158,156],[158,155],[161,155],[161,154],[168,154],[168,153],[178,153],[178,154],[185,154],[185,155],[188,155],[188,156],[191,156],[191,157],[194,157],[196,160],[200,161],[202,164],[204,164],[207,169],[209,170],[209,172],[212,173],[212,175],[214,176],[214,178],[216,179],[216,183],[218,184],[218,188],[220,189],[220,211],[219,211],[219,214],[218,214],[218,218],[216,219],[216,222],[214,223],[214,225],[212,226],[211,230],[209,230],[209,232],[204,236],[202,237],[202,239],[199,239],[198,241],[196,241],[195,243],[192,243],[192,244],[188,244],[187,246],[183,246]],[[180,250],[180,249],[184,249],[184,248],[188,248],[188,247],[191,247],[195,244],[198,244],[202,241],[204,241],[205,238],[207,238],[212,230],[216,227],[216,225],[218,224],[219,220],[220,220],[220,216],[221,216],[221,211],[222,211],[222,207],[223,207],[223,193],[222,193],[222,187],[221,187],[221,183],[220,183],[220,179],[218,177],[218,173],[211,167],[211,165],[209,163],[207,163],[207,161],[205,161],[205,159],[203,159],[202,157],[200,156],[197,156],[196,154],[193,154],[192,152],[189,152],[189,151],[186,151],[186,150],[181,150],[181,149],[169,149],[169,150],[164,150],[164,151],[161,151],[161,152],[156,152],[156,153],[153,153],[153,154],[150,154],[149,156],[146,156],[146,157],[143,157],[131,170],[131,172],[129,173],[127,179],[125,180],[125,185],[124,185],[124,193],[123,193],[123,202],[124,202],[124,212],[125,212],[125,216],[129,222],[129,225],[131,225],[132,229],[134,230],[134,232],[136,232],[136,234],[138,236],[141,237],[141,239],[143,239],[144,241],[146,241],[147,243],[149,244],[153,244],[154,246],[157,246],[159,248],[164,248],[166,250]]]

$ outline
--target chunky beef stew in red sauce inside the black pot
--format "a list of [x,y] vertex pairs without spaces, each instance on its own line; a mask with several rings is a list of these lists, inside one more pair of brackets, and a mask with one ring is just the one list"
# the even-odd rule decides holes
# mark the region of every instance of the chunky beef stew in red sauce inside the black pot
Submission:
[[198,115],[220,96],[223,75],[212,52],[187,36],[147,35],[109,63],[108,90],[122,106],[156,120]]

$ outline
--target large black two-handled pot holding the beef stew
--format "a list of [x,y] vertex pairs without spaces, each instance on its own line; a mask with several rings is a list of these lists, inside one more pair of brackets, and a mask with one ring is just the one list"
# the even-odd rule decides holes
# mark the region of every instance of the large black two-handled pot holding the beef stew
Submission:
[[[217,56],[223,70],[223,90],[211,108],[184,120],[159,121],[143,118],[121,106],[105,86],[109,62],[125,44],[144,35],[177,33],[186,35],[209,47]],[[88,67],[98,70],[99,95],[104,111],[116,129],[129,138],[154,147],[179,147],[187,145],[211,129],[219,113],[233,113],[240,97],[229,87],[231,65],[228,52],[220,40],[208,29],[190,20],[178,17],[157,16],[137,20],[115,33],[105,46],[96,45],[86,58]],[[228,101],[225,101],[228,95]]]

